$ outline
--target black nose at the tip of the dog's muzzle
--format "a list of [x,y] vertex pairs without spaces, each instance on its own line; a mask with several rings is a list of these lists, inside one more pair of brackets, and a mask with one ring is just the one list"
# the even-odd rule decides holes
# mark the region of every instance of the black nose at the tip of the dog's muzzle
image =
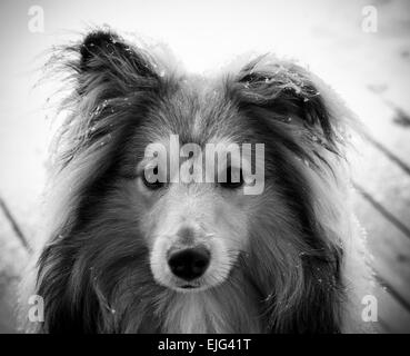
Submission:
[[196,247],[173,253],[168,259],[168,265],[177,277],[192,280],[203,275],[209,260],[209,250],[204,247]]

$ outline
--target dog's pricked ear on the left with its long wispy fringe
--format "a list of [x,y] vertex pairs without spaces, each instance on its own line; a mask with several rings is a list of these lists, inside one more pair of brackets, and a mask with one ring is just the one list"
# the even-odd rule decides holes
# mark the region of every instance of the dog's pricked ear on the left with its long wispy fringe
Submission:
[[140,122],[166,87],[158,67],[143,48],[107,30],[92,31],[81,42],[53,51],[49,68],[62,75],[62,92],[69,92],[59,107],[68,115],[53,146],[60,167],[88,148],[108,150],[107,144],[126,135],[129,118],[133,125]]

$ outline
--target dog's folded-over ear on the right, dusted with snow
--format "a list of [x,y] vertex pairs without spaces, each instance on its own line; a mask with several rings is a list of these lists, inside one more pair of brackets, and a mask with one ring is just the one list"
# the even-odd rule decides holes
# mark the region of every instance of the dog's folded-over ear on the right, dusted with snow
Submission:
[[284,132],[288,127],[293,140],[300,139],[303,148],[320,144],[340,154],[347,111],[341,112],[344,107],[331,88],[308,70],[292,62],[261,57],[239,72],[234,88],[240,109],[269,119],[276,130]]

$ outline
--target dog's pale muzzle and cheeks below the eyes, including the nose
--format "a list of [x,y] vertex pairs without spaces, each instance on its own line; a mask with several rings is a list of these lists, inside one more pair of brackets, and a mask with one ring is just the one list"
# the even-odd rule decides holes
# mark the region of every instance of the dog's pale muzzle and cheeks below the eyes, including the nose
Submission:
[[250,202],[240,187],[179,182],[153,190],[142,177],[137,186],[157,281],[183,291],[223,281],[248,243]]

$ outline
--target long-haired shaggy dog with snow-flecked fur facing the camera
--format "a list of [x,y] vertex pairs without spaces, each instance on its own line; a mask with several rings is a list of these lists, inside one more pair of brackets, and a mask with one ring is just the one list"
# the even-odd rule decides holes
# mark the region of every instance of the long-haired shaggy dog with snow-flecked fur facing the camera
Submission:
[[[61,53],[72,90],[44,243],[22,288],[23,329],[370,330],[361,299],[373,278],[346,159],[356,119],[330,87],[271,55],[210,78],[188,75],[111,30]],[[171,141],[248,145],[251,156],[262,145],[262,159],[246,160],[248,169],[224,160],[221,181],[183,180],[193,160],[197,174],[203,164],[188,149],[172,180]],[[152,145],[169,155],[150,156]],[[261,191],[244,194],[258,168]],[[29,295],[43,298],[43,320],[28,320]]]

